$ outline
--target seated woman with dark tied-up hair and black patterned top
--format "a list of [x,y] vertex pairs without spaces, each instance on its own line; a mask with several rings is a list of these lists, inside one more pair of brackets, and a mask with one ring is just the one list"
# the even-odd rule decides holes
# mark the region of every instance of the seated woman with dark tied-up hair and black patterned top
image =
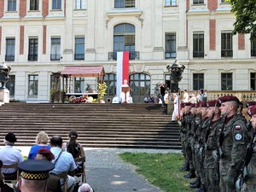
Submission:
[[77,168],[74,170],[74,173],[81,172],[83,169],[83,163],[85,162],[84,148],[80,143],[77,143],[77,138],[79,137],[77,131],[69,131],[68,138],[69,142],[63,143],[64,149],[73,155],[73,159],[84,157],[82,162],[77,162]]

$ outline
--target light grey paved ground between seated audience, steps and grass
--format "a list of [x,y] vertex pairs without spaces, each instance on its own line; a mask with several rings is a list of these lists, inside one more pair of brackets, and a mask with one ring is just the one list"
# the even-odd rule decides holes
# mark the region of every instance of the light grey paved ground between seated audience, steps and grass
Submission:
[[[162,192],[135,172],[136,167],[119,159],[124,152],[179,153],[173,150],[129,148],[84,148],[86,154],[86,180],[95,192]],[[20,147],[27,155],[29,148]]]

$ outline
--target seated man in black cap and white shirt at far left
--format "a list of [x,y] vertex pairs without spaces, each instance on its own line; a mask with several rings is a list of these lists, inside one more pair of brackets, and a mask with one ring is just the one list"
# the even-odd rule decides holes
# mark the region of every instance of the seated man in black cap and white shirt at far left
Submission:
[[[9,132],[4,137],[3,142],[5,147],[0,149],[0,160],[3,161],[3,165],[9,166],[23,161],[23,157],[20,151],[13,148],[16,141],[17,138],[12,132]],[[3,168],[2,172],[6,180],[16,179],[17,177],[17,169],[15,168]]]

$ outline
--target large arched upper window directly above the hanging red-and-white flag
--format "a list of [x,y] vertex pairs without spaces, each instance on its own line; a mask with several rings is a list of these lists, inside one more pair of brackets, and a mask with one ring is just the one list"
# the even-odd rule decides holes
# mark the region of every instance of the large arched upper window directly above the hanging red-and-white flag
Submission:
[[127,23],[114,26],[113,51],[115,60],[118,51],[130,51],[130,60],[135,60],[135,26]]

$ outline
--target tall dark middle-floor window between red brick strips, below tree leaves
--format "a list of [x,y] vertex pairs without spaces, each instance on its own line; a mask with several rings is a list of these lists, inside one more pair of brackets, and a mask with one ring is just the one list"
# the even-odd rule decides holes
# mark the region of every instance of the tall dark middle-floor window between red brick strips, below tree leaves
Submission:
[[221,33],[221,56],[232,57],[233,56],[233,42],[231,32]]

